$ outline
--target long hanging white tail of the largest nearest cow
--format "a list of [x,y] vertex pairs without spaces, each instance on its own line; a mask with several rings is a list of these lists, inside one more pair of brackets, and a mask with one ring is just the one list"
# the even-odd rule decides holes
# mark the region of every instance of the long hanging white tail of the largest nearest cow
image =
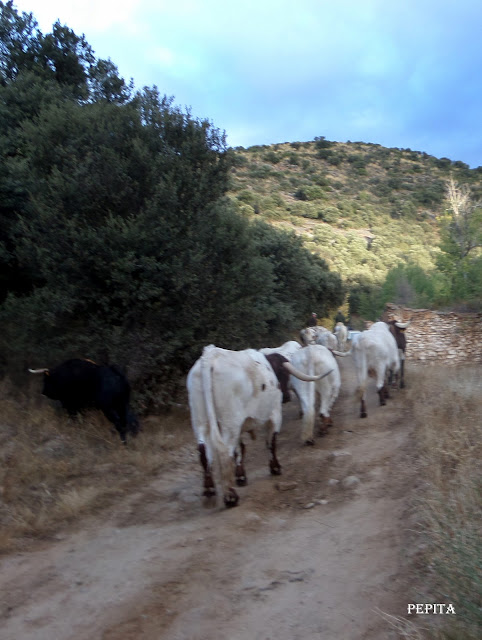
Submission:
[[201,356],[201,380],[204,406],[209,423],[209,434],[214,462],[214,472],[219,475],[223,492],[226,493],[233,479],[233,460],[219,430],[213,392],[213,356],[216,347],[212,344],[204,347]]

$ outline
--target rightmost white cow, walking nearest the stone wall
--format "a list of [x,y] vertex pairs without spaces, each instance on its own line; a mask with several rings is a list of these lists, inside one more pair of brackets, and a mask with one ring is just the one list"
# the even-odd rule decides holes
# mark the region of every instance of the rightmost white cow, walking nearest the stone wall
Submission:
[[360,417],[367,417],[365,392],[369,377],[375,378],[380,404],[385,404],[388,394],[388,376],[400,371],[400,357],[397,342],[385,322],[374,322],[366,331],[362,331],[352,343],[350,351],[335,355],[353,354],[358,380],[357,395],[360,398]]

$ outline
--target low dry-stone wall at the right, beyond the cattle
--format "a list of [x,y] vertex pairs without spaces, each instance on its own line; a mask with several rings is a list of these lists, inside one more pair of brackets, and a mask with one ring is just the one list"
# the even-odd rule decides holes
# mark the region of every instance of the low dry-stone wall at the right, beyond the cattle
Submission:
[[420,362],[482,362],[482,314],[407,309],[388,303],[382,319],[410,320],[407,359]]

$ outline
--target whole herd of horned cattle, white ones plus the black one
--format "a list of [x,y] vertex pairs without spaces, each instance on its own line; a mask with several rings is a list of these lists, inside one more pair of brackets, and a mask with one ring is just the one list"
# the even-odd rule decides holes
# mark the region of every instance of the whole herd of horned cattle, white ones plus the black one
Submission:
[[[302,329],[301,343],[290,340],[277,348],[230,351],[214,345],[205,347],[187,376],[191,423],[203,470],[203,495],[216,495],[216,478],[224,504],[231,507],[238,503],[233,484],[243,486],[247,482],[242,436],[248,433],[254,439],[255,428],[262,425],[267,427],[270,472],[281,473],[276,439],[281,429],[282,403],[290,400],[290,391],[300,403],[302,442],[314,444],[317,415],[320,432],[326,432],[332,424],[331,409],[341,384],[337,357],[353,358],[360,417],[367,416],[369,377],[375,378],[380,404],[384,405],[390,385],[404,386],[404,332],[408,325],[395,320],[375,322],[348,340],[347,328],[339,322],[333,333],[321,326]],[[60,401],[69,415],[87,407],[100,409],[124,444],[127,433],[137,435],[139,423],[130,408],[130,386],[118,367],[74,359],[52,370],[29,371],[43,374],[42,393]]]

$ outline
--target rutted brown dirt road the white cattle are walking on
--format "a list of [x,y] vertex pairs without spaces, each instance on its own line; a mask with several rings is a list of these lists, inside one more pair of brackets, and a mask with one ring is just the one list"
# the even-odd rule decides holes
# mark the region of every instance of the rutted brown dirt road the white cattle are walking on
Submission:
[[283,475],[249,441],[237,508],[203,507],[192,441],[101,517],[3,558],[2,640],[397,638],[379,611],[409,602],[410,408],[404,391],[378,407],[370,387],[361,420],[350,358],[340,365],[330,433],[302,447],[285,405]]

